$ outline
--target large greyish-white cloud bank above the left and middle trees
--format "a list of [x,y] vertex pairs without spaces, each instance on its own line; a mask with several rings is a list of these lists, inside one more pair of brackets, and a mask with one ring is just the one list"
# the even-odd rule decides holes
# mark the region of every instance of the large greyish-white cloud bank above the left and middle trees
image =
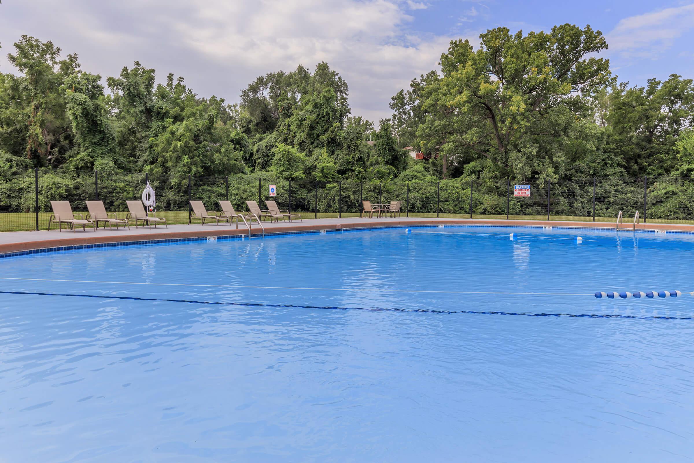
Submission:
[[157,69],[160,80],[173,72],[199,94],[228,101],[237,101],[256,76],[324,60],[350,85],[353,114],[377,122],[389,115],[390,97],[436,69],[457,38],[418,33],[409,12],[427,5],[412,0],[170,0],[166,8],[160,0],[63,3],[58,10],[49,8],[51,0],[3,4],[16,28],[0,30],[0,41],[8,45],[20,30],[35,32],[80,53],[87,71],[115,75],[139,60]]

